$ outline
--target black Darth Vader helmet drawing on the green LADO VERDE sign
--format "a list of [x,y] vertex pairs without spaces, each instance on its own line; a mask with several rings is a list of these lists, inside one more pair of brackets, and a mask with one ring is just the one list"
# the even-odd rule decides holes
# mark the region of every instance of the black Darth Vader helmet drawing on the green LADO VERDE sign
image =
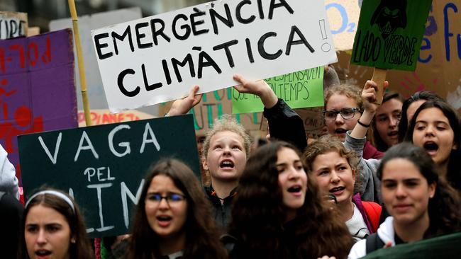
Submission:
[[374,11],[370,24],[378,25],[384,40],[397,28],[405,28],[406,0],[382,0]]

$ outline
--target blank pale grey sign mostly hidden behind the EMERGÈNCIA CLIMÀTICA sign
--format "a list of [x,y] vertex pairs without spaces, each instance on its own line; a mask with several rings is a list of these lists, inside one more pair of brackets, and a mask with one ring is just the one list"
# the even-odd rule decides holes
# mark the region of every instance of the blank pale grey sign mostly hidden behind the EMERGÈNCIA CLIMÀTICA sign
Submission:
[[[82,42],[82,54],[85,62],[85,76],[87,79],[87,95],[91,109],[107,109],[106,96],[102,86],[101,74],[99,74],[98,62],[96,62],[96,52],[91,43],[91,30],[101,28],[115,23],[123,23],[143,17],[139,7],[126,8],[104,13],[94,13],[91,16],[79,17],[79,30]],[[72,19],[65,18],[50,21],[50,30],[72,29]],[[74,48],[74,56],[77,51]],[[78,73],[77,60],[75,61],[75,85],[80,89],[80,76]],[[77,105],[79,110],[83,110],[82,95],[77,94]],[[152,110],[152,109],[151,109]],[[152,113],[157,115],[157,113]]]

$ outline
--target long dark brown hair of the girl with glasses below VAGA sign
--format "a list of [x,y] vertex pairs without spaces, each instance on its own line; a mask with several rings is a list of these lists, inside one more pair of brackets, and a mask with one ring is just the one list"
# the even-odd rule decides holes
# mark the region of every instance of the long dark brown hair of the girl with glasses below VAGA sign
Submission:
[[133,235],[128,258],[160,258],[159,236],[151,229],[145,214],[145,197],[152,179],[165,175],[172,179],[187,200],[187,220],[184,223],[186,248],[184,258],[226,258],[226,250],[219,241],[218,229],[211,218],[210,206],[191,169],[176,159],[160,161],[150,168],[133,219]]

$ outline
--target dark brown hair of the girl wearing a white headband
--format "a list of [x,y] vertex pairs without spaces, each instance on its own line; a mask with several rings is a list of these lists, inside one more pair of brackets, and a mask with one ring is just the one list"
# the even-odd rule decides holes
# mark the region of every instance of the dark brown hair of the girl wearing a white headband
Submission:
[[[89,239],[87,237],[87,229],[84,224],[84,219],[82,214],[80,214],[79,207],[77,203],[74,202],[72,197],[67,195],[65,192],[60,190],[52,189],[52,188],[40,188],[38,192],[43,190],[54,190],[56,192],[62,193],[62,195],[67,196],[72,204],[74,205],[74,209],[70,207],[70,205],[63,200],[61,197],[57,195],[52,195],[48,193],[40,194],[33,197],[32,200],[28,201],[27,207],[24,209],[23,214],[23,222],[22,222],[22,231],[21,231],[21,242],[19,243],[19,250],[18,250],[18,258],[29,259],[27,253],[27,246],[26,246],[26,238],[24,236],[24,232],[26,231],[26,218],[27,214],[30,211],[30,208],[42,205],[44,207],[49,207],[51,209],[55,209],[55,211],[62,214],[67,220],[67,223],[70,227],[71,236],[74,238],[75,243],[70,243],[69,246],[69,254],[71,259],[90,259],[94,258],[93,250],[91,249],[91,245],[89,243]],[[35,192],[36,193],[36,192]],[[21,247],[22,246],[22,247]]]

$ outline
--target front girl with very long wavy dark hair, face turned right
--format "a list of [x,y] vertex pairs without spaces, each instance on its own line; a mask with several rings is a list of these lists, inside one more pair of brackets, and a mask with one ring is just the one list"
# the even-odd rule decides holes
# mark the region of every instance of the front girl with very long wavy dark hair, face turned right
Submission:
[[345,258],[352,237],[308,178],[296,148],[270,142],[248,159],[229,234],[230,258]]

